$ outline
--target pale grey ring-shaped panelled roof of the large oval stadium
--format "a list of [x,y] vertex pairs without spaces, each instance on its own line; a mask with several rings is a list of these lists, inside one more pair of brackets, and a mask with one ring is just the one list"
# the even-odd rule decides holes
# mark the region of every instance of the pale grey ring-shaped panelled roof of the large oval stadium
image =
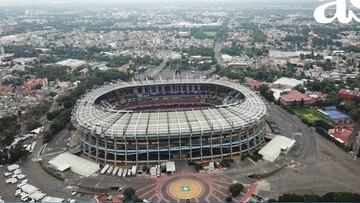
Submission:
[[[245,99],[229,105],[205,109],[159,110],[143,112],[100,108],[94,101],[111,91],[146,85],[213,84],[241,92]],[[263,101],[248,88],[225,80],[173,79],[121,82],[103,86],[77,102],[73,122],[89,133],[108,137],[158,137],[201,135],[240,129],[253,125],[266,115]]]

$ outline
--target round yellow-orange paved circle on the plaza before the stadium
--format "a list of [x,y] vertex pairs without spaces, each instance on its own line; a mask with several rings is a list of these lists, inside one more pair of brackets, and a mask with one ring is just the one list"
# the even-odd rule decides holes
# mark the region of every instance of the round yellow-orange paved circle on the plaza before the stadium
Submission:
[[202,183],[192,179],[179,179],[169,186],[169,194],[175,199],[194,199],[204,192]]

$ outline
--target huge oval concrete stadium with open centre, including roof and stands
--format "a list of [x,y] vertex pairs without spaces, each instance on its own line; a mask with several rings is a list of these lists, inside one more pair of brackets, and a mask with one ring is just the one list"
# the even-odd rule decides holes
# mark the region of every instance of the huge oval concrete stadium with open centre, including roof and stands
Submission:
[[117,82],[77,101],[72,122],[84,156],[113,164],[219,160],[264,142],[266,106],[225,80]]

